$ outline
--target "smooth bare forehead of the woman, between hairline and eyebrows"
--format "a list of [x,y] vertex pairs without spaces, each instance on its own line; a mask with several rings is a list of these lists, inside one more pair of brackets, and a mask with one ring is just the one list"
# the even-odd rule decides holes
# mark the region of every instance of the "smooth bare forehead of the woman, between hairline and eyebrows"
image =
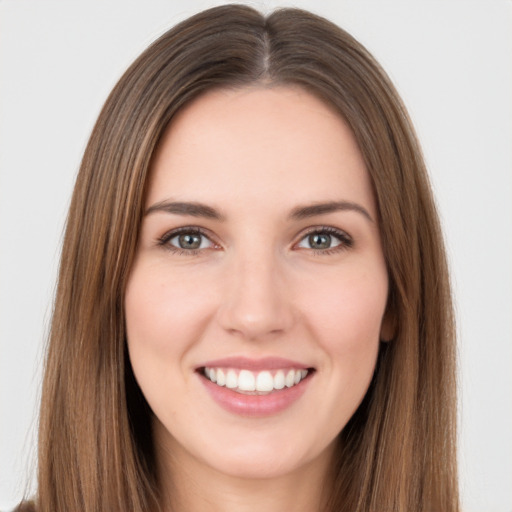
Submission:
[[243,196],[254,207],[345,199],[374,209],[343,118],[305,90],[283,86],[216,90],[182,109],[153,159],[148,203],[169,196],[219,206]]

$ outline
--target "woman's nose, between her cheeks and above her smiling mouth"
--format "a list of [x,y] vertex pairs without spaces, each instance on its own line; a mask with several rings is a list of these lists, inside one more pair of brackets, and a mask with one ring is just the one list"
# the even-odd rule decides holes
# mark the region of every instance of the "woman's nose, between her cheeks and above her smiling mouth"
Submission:
[[292,290],[271,255],[252,254],[230,265],[219,308],[219,323],[247,340],[286,332],[294,322]]

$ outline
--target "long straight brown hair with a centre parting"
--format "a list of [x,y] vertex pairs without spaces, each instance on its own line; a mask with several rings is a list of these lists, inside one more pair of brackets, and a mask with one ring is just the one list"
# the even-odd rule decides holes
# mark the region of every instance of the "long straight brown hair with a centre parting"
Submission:
[[176,112],[212,88],[298,85],[352,128],[373,182],[395,334],[339,436],[329,511],[455,512],[455,348],[439,222],[420,148],[373,57],[297,9],[204,11],[153,43],[99,116],[62,252],[39,434],[41,512],[159,509],[151,412],[126,353],[123,299],[148,169]]

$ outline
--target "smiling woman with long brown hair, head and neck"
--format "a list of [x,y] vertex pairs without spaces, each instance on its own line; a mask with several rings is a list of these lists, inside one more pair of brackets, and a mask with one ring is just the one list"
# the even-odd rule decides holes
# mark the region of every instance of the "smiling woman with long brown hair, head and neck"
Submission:
[[107,100],[72,199],[38,511],[458,510],[442,237],[373,58],[200,13]]

